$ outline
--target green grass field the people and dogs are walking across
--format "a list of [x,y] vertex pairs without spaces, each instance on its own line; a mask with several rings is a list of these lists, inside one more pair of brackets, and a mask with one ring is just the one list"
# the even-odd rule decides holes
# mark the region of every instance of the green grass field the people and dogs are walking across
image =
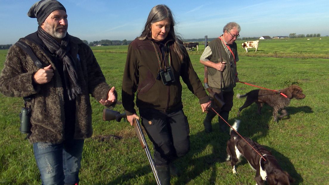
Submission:
[[[234,98],[229,123],[241,120],[239,133],[265,145],[278,159],[281,167],[294,179],[294,184],[329,184],[329,37],[261,40],[257,52],[245,53],[242,41],[237,41],[239,79],[269,89],[283,89],[299,85],[306,95],[302,100],[291,100],[287,108],[289,119],[272,120],[272,109],[264,106],[257,115],[255,104],[238,108],[245,99]],[[203,81],[203,66],[199,63],[204,46],[190,51],[193,67]],[[121,102],[121,83],[127,46],[92,47],[106,76],[114,85]],[[0,69],[7,50],[0,50]],[[236,93],[255,89],[241,83]],[[175,161],[181,175],[172,184],[255,184],[255,172],[243,159],[234,175],[225,161],[228,135],[222,134],[213,119],[213,132],[203,131],[201,112],[196,97],[183,84],[184,112],[190,123],[190,152]],[[145,152],[141,149],[132,126],[128,122],[102,121],[101,106],[91,98],[93,108],[93,137],[85,142],[80,184],[156,184]],[[0,184],[41,184],[32,145],[19,132],[18,113],[22,98],[0,94]],[[120,103],[114,110],[123,112]],[[121,139],[115,139],[120,136]],[[149,146],[151,146],[148,140]],[[152,150],[152,147],[151,151]]]

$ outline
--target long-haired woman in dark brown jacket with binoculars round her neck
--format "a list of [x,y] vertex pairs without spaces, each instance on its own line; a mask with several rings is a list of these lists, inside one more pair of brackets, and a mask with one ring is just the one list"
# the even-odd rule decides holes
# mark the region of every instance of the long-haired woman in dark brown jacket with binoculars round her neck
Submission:
[[150,11],[140,37],[129,44],[122,82],[122,104],[131,125],[139,119],[154,148],[162,184],[170,184],[169,166],[190,149],[190,127],[183,112],[180,77],[199,99],[202,112],[210,105],[190,57],[174,30],[166,5]]

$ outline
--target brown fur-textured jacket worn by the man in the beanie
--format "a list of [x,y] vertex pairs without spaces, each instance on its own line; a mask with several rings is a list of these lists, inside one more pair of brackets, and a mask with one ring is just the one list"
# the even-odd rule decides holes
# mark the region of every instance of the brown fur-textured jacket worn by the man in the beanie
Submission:
[[[13,45],[7,54],[7,59],[0,76],[0,91],[6,96],[25,97],[32,95],[32,100],[27,106],[31,107],[32,134],[29,137],[31,143],[50,142],[61,143],[64,136],[64,97],[61,76],[56,69],[51,57],[41,47],[44,44],[41,40],[33,42],[26,38],[38,38],[37,33],[30,34],[22,39],[31,46],[42,66],[52,65],[54,76],[46,84],[36,84],[33,75],[38,67],[33,63],[30,56],[20,47]],[[92,135],[91,127],[91,105],[89,94],[97,101],[105,99],[110,86],[106,83],[105,77],[98,65],[90,47],[82,40],[70,36],[70,54],[76,61],[76,72],[82,94],[77,95],[75,112],[75,133],[74,139],[85,139]],[[38,43],[39,44],[36,44]],[[43,45],[42,45],[43,44]]]

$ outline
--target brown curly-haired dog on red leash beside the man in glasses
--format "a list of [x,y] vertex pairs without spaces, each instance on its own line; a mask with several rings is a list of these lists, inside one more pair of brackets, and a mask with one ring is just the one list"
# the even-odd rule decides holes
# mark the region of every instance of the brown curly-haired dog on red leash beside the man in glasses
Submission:
[[242,109],[248,107],[254,102],[256,102],[258,105],[257,113],[261,114],[263,103],[266,103],[273,108],[274,121],[277,122],[278,112],[280,110],[282,110],[281,111],[282,114],[279,116],[280,119],[288,115],[287,110],[285,110],[284,108],[289,105],[290,100],[292,98],[296,98],[296,99],[305,98],[305,94],[303,94],[303,90],[297,85],[291,85],[286,89],[280,90],[279,92],[286,94],[288,97],[286,98],[280,93],[276,93],[270,90],[261,90],[261,89],[252,90],[249,93],[243,95],[237,94],[238,98],[247,96],[246,101],[239,108],[238,116],[240,115]]

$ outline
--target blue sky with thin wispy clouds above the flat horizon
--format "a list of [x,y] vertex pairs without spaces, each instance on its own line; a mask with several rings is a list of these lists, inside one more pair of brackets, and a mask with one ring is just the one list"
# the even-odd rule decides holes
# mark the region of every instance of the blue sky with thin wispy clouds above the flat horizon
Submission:
[[[0,0],[0,44],[13,44],[37,30],[26,14],[35,0]],[[61,0],[68,14],[68,33],[88,42],[134,40],[151,8],[166,4],[184,39],[218,37],[227,22],[240,24],[241,37],[329,35],[328,0]]]

